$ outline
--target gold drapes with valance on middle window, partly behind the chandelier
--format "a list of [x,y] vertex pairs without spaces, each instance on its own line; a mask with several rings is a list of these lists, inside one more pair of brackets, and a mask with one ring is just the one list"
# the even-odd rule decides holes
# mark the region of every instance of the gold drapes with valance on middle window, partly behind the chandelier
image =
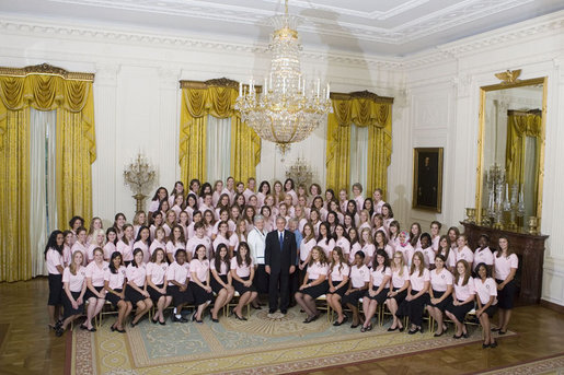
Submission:
[[[218,82],[219,81],[219,82]],[[261,161],[261,139],[253,129],[241,121],[234,109],[238,96],[237,82],[211,80],[183,81],[181,108],[180,165],[181,179],[206,180],[207,116],[231,118],[231,175],[235,180],[255,176]]]

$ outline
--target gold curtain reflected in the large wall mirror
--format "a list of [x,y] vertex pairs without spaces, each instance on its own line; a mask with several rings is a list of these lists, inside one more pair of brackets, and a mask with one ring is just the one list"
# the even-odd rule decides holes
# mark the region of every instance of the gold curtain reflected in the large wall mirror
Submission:
[[[536,160],[539,162],[541,150],[542,113],[539,109],[529,112],[507,112],[507,145],[505,153],[505,165],[507,181],[509,185],[517,183],[525,184],[525,144],[527,137],[537,141]],[[537,181],[533,184],[538,186]],[[537,195],[537,194],[536,194]]]

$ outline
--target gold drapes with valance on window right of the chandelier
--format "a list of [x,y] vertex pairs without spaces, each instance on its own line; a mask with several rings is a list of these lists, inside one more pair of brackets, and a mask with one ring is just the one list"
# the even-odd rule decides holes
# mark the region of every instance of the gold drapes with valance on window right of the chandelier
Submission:
[[333,114],[327,119],[327,187],[348,190],[350,126],[368,129],[368,171],[365,190],[388,190],[388,166],[392,155],[392,98],[362,92],[333,95]]

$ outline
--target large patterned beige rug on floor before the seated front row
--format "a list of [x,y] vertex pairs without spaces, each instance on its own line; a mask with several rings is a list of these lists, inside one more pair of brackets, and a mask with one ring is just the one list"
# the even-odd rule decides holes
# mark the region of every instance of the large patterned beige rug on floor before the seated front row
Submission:
[[[388,332],[391,319],[368,332],[334,327],[323,314],[303,324],[303,314],[290,309],[268,318],[265,309],[252,312],[248,321],[220,317],[219,324],[153,325],[147,319],[127,327],[127,335],[110,331],[114,318],[95,333],[76,329],[72,335],[70,373],[87,374],[279,374],[307,372],[413,352],[481,341],[480,327],[469,326],[470,338],[454,340],[452,329],[433,333]],[[508,332],[508,335],[515,335]],[[70,340],[69,340],[70,341]]]

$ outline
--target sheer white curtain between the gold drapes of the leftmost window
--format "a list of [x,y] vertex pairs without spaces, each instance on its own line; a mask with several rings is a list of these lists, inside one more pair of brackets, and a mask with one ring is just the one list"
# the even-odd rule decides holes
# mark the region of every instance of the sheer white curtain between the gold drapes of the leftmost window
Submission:
[[43,255],[57,227],[55,110],[30,109],[30,243],[32,277],[47,274]]

